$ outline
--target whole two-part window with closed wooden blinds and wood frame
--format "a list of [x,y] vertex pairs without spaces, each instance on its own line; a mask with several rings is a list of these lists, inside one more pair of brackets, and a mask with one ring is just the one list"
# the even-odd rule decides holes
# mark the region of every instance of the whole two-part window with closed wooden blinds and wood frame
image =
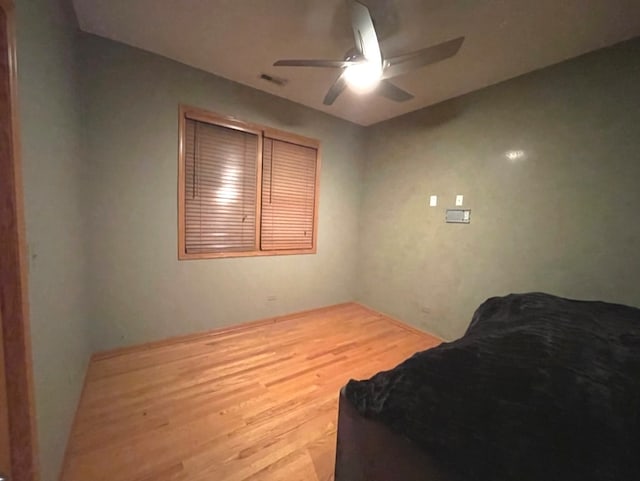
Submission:
[[316,252],[319,144],[180,109],[179,259]]

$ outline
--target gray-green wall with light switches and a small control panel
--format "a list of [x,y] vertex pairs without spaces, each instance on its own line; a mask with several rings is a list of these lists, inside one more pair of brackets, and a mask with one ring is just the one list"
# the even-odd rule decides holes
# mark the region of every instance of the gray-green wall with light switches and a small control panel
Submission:
[[638,85],[640,39],[372,127],[358,299],[445,338],[510,292],[640,304]]

